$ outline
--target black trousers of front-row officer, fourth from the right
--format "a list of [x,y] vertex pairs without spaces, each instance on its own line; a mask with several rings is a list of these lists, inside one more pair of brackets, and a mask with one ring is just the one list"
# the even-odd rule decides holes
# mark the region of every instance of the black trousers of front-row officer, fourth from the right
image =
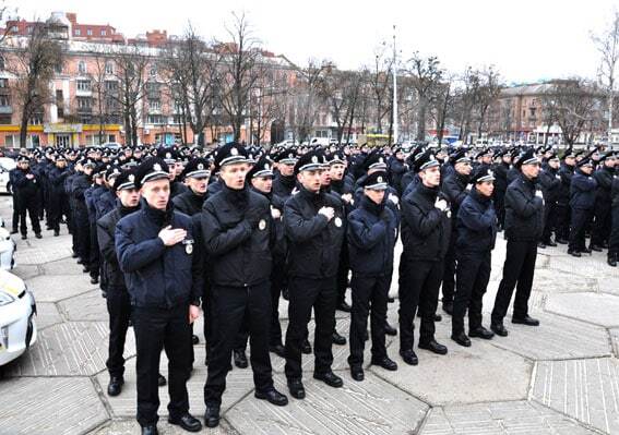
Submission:
[[384,326],[386,324],[386,300],[391,271],[384,276],[360,276],[353,271],[350,288],[353,289],[353,310],[350,313],[350,366],[364,364],[364,336],[370,316],[372,337],[372,358],[386,357]]

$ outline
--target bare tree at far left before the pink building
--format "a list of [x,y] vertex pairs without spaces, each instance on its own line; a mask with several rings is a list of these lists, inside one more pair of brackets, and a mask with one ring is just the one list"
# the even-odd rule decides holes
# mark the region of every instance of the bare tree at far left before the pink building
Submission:
[[20,146],[26,146],[28,122],[43,117],[44,105],[53,102],[49,83],[63,62],[62,45],[50,37],[45,23],[35,23],[27,39],[15,39],[8,70],[15,75],[12,94],[21,107]]

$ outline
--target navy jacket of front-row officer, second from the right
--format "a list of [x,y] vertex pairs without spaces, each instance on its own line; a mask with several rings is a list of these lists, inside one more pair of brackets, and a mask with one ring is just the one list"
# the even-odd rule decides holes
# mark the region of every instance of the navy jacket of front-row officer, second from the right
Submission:
[[457,210],[456,253],[485,253],[495,247],[497,215],[492,200],[473,189]]

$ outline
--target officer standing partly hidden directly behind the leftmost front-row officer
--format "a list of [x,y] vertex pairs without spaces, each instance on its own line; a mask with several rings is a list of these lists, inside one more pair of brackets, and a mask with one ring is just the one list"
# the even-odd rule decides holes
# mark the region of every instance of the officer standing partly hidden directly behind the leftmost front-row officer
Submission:
[[135,188],[135,174],[123,171],[116,179],[114,191],[117,207],[97,220],[97,238],[102,253],[102,288],[105,287],[109,314],[109,346],[106,362],[109,372],[108,396],[118,396],[124,384],[124,339],[131,316],[131,300],[120,270],[115,249],[116,223],[140,208],[140,191]]

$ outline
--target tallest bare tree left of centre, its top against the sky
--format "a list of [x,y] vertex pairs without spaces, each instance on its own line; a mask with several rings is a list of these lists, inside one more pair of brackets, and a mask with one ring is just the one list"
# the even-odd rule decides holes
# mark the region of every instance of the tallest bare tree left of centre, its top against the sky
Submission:
[[261,50],[245,13],[233,13],[233,16],[231,26],[226,28],[231,43],[221,45],[224,55],[222,106],[230,120],[234,140],[238,142],[250,92],[258,78],[253,69]]

